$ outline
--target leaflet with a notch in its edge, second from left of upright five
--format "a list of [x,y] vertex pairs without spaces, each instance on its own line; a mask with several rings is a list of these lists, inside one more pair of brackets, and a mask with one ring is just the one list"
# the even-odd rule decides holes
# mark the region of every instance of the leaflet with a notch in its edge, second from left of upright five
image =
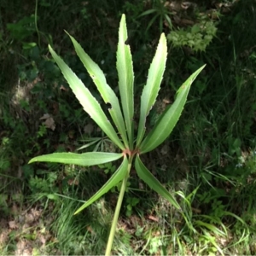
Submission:
[[118,131],[127,147],[128,141],[127,141],[126,130],[125,130],[125,122],[124,122],[123,114],[121,112],[121,108],[119,105],[118,97],[115,95],[112,88],[107,84],[107,80],[104,73],[102,72],[102,69],[96,64],[95,61],[91,60],[89,55],[87,55],[84,52],[84,49],[76,41],[75,38],[73,38],[71,35],[69,35],[69,37],[73,42],[73,46],[77,52],[77,55],[79,55],[79,59],[83,62],[84,67],[86,68],[87,72],[90,74],[90,77],[93,80],[94,84],[96,84],[96,87],[100,92],[102,99],[106,104],[110,103],[111,108],[109,108],[108,111],[113,119],[114,124],[117,126]]

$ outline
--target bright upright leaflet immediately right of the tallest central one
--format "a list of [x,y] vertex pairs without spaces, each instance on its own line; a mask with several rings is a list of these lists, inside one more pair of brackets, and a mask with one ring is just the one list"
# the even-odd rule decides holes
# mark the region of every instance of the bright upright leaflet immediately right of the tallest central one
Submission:
[[157,46],[154,59],[148,70],[147,84],[143,88],[141,97],[141,111],[137,134],[137,147],[143,140],[145,133],[146,119],[150,109],[153,107],[155,99],[160,90],[160,83],[166,68],[167,45],[165,34],[162,33]]

